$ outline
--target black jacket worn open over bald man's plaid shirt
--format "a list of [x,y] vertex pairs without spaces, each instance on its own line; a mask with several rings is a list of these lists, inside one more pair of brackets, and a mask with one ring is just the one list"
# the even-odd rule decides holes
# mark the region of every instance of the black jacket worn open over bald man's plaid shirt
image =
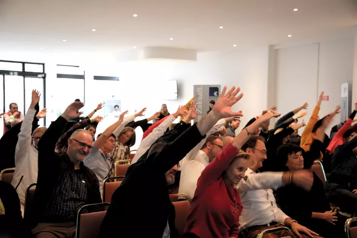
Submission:
[[[53,121],[38,142],[38,177],[34,193],[34,207],[31,213],[32,221],[34,221],[33,225],[37,222],[45,222],[43,214],[53,189],[58,183],[58,178],[63,170],[73,166],[65,154],[57,155],[54,152],[56,142],[62,135],[66,123],[67,120],[62,117]],[[87,204],[102,203],[97,176],[89,168],[84,166],[84,169],[85,184],[87,185]]]

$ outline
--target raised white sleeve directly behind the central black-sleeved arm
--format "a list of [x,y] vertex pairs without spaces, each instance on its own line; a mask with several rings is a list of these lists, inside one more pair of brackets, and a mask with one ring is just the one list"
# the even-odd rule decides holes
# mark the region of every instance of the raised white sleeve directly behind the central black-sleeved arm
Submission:
[[136,154],[132,160],[131,164],[136,163],[140,159],[140,157],[146,153],[147,150],[150,149],[151,145],[153,142],[155,142],[159,137],[164,135],[166,130],[169,128],[171,123],[175,120],[176,118],[172,115],[165,119],[163,122],[161,122],[160,125],[158,125],[153,131],[146,136],[143,140],[141,140],[139,148],[137,148]]

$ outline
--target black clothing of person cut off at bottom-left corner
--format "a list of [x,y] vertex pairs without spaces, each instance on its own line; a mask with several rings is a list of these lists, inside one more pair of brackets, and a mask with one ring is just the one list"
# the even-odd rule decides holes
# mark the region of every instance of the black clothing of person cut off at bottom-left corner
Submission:
[[11,184],[0,181],[0,199],[5,209],[5,214],[0,215],[0,237],[2,232],[10,234],[12,238],[33,237],[22,219],[20,200]]

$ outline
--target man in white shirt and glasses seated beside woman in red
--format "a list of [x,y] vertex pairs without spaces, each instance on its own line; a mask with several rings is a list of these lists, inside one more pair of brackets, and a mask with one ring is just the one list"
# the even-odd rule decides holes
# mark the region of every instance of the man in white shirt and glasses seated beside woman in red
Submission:
[[[264,138],[261,136],[251,136],[250,139],[242,146],[243,151],[250,154],[254,164],[245,172],[244,180],[254,178],[257,169],[263,166],[262,162],[267,158]],[[264,173],[266,174],[266,173]],[[273,174],[273,173],[272,173]],[[294,172],[294,177],[297,173]],[[260,175],[261,176],[261,175]],[[277,176],[277,175],[275,175]],[[281,175],[280,175],[281,176]],[[309,179],[308,176],[305,176]],[[293,176],[289,181],[293,181]],[[301,178],[301,179],[304,179]],[[241,203],[244,207],[239,217],[240,235],[243,238],[255,238],[260,232],[280,226],[287,226],[299,238],[311,237],[318,234],[302,226],[298,221],[292,220],[277,206],[272,189],[277,189],[284,185],[282,180],[271,177],[269,179],[262,179],[257,182],[255,189],[244,188],[244,180],[239,183],[236,188],[239,190]],[[272,182],[273,181],[273,182]],[[312,183],[311,183],[312,186]],[[307,187],[306,190],[311,189]],[[272,188],[272,189],[271,189]],[[302,232],[300,234],[300,232]],[[305,233],[305,234],[303,234]]]

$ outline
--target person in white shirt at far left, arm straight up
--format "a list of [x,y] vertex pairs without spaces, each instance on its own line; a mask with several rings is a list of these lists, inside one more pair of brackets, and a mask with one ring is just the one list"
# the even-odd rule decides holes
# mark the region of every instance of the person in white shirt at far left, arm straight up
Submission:
[[[32,100],[26,116],[21,123],[21,132],[18,134],[18,140],[15,151],[15,172],[11,182],[12,186],[17,188],[17,194],[20,199],[21,212],[24,213],[26,188],[37,181],[37,147],[38,141],[46,131],[46,127],[39,127],[32,133],[32,123],[36,110],[35,105],[40,100],[38,91],[32,91]],[[37,119],[46,117],[46,108],[39,111]]]

